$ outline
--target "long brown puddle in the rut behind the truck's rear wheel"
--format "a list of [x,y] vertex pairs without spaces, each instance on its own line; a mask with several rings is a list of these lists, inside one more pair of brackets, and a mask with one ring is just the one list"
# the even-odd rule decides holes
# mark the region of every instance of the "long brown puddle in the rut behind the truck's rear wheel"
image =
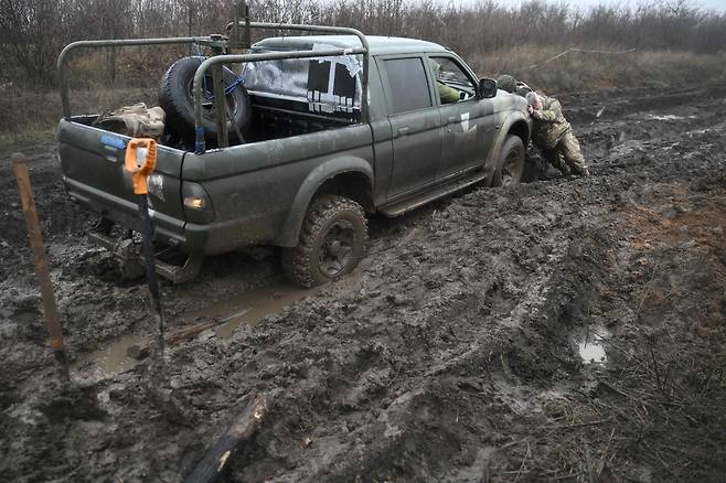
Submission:
[[[281,280],[213,303],[206,309],[185,312],[175,321],[174,330],[216,321],[218,324],[212,328],[216,336],[228,339],[239,325],[253,326],[264,316],[277,313],[306,297],[316,296],[321,289],[322,287],[302,289],[287,280]],[[138,363],[127,355],[127,350],[148,340],[148,336],[142,335],[124,335],[99,351],[79,354],[78,359],[72,364],[71,371],[77,374],[81,367],[86,367],[90,363],[90,373],[94,377],[109,377],[124,373]]]

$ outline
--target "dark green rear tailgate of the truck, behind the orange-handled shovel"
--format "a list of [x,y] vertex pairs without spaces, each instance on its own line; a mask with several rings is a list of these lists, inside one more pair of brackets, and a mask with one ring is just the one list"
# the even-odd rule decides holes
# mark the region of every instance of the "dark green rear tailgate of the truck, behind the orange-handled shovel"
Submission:
[[[58,155],[68,194],[113,222],[138,229],[130,178],[124,170],[129,137],[81,121],[61,120]],[[161,239],[184,243],[181,169],[184,151],[159,146],[157,168],[149,179],[149,204]]]

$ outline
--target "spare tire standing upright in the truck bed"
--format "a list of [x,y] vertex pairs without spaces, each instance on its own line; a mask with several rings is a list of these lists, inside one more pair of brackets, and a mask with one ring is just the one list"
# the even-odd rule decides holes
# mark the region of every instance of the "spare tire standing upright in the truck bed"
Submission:
[[[194,141],[194,74],[202,64],[202,57],[183,57],[174,62],[161,78],[159,86],[159,105],[167,114],[167,126],[183,140]],[[237,80],[237,76],[228,68],[223,68],[224,86],[227,88]],[[212,93],[212,73],[204,76],[202,89],[202,126],[205,140],[216,144],[216,121],[214,110],[214,95]],[[238,84],[225,96],[227,101],[227,133],[229,142],[242,142],[238,139],[235,126],[243,131],[252,119],[249,94],[242,84]],[[232,118],[232,121],[229,121]],[[234,122],[234,126],[233,126]]]

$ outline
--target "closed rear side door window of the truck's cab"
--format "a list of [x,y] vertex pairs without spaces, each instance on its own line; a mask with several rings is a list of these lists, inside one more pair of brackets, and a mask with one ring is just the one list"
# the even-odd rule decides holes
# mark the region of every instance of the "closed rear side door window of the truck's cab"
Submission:
[[420,58],[383,61],[388,79],[391,114],[431,107],[428,80]]

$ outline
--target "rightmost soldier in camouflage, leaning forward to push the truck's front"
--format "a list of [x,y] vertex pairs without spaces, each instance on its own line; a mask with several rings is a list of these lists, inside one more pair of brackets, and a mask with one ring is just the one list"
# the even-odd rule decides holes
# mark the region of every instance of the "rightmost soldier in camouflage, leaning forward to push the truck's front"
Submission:
[[534,119],[532,142],[542,149],[545,160],[563,173],[567,165],[573,174],[588,176],[590,172],[585,165],[573,128],[562,114],[559,101],[534,92],[527,93],[525,98],[530,115]]

